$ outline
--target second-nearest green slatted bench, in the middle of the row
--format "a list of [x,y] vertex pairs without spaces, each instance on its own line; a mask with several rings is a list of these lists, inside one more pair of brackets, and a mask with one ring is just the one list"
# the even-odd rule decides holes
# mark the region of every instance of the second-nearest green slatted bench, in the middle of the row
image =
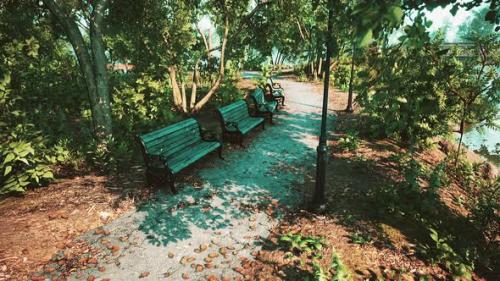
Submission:
[[253,128],[261,125],[262,129],[265,129],[264,118],[250,116],[244,100],[220,107],[217,112],[221,121],[223,138],[236,138],[240,146],[243,146],[243,136]]

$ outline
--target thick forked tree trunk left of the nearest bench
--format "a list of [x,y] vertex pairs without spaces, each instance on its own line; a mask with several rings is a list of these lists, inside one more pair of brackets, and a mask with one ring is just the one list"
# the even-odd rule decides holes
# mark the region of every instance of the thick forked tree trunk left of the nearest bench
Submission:
[[86,45],[74,15],[66,14],[54,0],[43,0],[43,3],[62,26],[73,47],[87,87],[94,134],[104,141],[112,135],[107,59],[102,40],[102,21],[107,0],[95,1],[93,4],[92,18],[89,19],[90,46]]

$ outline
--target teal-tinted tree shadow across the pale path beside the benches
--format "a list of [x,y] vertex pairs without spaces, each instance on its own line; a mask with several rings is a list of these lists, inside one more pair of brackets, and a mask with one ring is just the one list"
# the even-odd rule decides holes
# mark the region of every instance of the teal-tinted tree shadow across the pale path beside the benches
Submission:
[[232,228],[235,220],[248,219],[272,202],[284,208],[300,205],[302,192],[293,184],[301,180],[304,166],[314,163],[311,141],[319,119],[317,113],[282,114],[276,125],[256,129],[247,148],[226,151],[224,161],[209,156],[187,171],[199,173],[201,188],[185,186],[177,195],[159,191],[154,201],[139,207],[146,214],[139,229],[150,243],[166,246],[191,238],[193,228]]

